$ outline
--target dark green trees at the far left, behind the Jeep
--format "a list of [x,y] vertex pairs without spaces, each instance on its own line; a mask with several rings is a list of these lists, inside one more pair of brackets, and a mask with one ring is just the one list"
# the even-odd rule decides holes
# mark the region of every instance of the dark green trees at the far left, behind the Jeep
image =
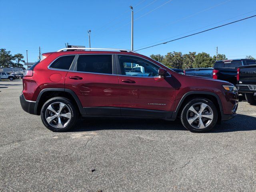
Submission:
[[23,60],[24,56],[20,53],[12,55],[10,51],[6,51],[6,49],[0,49],[0,68],[3,67],[22,67],[24,66],[21,62],[25,62]]

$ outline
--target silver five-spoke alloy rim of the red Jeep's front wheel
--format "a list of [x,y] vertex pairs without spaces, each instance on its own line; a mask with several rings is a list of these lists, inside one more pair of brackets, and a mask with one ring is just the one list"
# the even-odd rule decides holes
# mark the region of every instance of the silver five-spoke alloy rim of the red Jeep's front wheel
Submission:
[[208,127],[213,120],[212,108],[205,103],[196,103],[190,106],[187,112],[188,123],[197,129]]

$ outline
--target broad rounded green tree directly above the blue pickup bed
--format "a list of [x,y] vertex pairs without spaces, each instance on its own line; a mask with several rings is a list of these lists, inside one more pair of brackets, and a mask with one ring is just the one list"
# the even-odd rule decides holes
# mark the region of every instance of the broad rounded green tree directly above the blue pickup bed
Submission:
[[201,68],[201,67],[212,67],[214,64],[214,59],[205,52],[198,53],[195,57],[195,61],[193,63],[194,68]]

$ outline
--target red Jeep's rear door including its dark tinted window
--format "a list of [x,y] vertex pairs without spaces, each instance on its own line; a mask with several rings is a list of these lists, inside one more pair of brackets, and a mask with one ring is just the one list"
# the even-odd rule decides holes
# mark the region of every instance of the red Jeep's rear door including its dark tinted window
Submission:
[[65,89],[78,96],[87,115],[120,115],[118,76],[112,54],[80,54]]

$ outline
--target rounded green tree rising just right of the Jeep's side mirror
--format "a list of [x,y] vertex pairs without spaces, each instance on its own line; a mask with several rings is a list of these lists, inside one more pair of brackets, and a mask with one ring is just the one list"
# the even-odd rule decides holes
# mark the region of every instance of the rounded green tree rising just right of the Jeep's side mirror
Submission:
[[163,64],[170,68],[181,69],[183,64],[183,57],[181,52],[169,52],[162,61]]

